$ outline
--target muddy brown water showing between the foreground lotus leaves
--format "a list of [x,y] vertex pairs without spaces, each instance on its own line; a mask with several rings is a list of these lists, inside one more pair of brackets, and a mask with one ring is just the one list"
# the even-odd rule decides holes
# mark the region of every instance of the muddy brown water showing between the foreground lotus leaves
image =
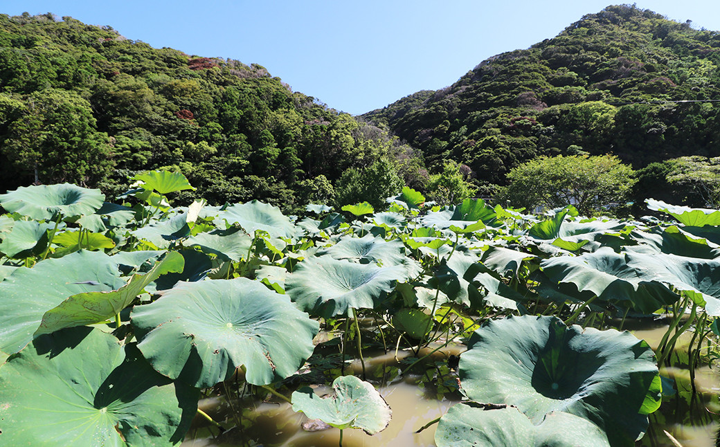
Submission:
[[[629,322],[626,328],[636,337],[646,340],[657,348],[667,325],[663,322]],[[688,339],[680,338],[678,348],[686,348]],[[683,345],[685,341],[685,345]],[[436,353],[436,359],[450,353],[458,355],[462,346],[454,346],[446,352]],[[400,353],[400,356],[407,356]],[[366,366],[392,365],[395,356],[366,356]],[[663,369],[662,375],[672,377],[678,384],[674,396],[665,397],[660,410],[650,416],[650,427],[637,446],[677,447],[665,431],[682,447],[716,447],[716,435],[720,428],[720,374],[719,366],[705,366],[696,372],[698,394],[690,396],[690,374],[685,369]],[[346,374],[361,375],[359,362],[351,364]],[[320,395],[329,393],[330,387],[318,387]],[[367,435],[362,430],[343,430],[344,447],[425,447],[435,446],[436,424],[415,433],[426,423],[445,414],[456,403],[454,399],[433,399],[423,388],[418,387],[417,377],[399,379],[378,387],[378,391],[392,408],[390,425],[376,435]],[[229,447],[229,446],[284,446],[284,447],[336,447],[340,431],[336,428],[307,432],[302,423],[307,417],[292,411],[287,403],[268,402],[226,402],[222,397],[203,399],[199,407],[225,422],[229,430],[217,435],[215,428],[196,417],[194,428],[188,433],[181,447]],[[241,415],[240,415],[241,413]]]

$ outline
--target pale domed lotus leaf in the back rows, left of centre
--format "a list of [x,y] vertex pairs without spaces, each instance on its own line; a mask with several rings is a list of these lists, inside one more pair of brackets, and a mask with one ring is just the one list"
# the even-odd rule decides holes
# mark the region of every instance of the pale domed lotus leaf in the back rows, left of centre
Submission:
[[278,207],[257,200],[234,204],[217,213],[213,222],[218,228],[238,224],[251,236],[255,235],[255,230],[263,230],[273,238],[292,238],[297,231]]

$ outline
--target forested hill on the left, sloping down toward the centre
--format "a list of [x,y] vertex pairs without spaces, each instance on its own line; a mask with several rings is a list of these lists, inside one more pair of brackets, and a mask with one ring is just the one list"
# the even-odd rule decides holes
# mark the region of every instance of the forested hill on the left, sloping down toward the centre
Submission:
[[167,167],[197,186],[193,197],[292,211],[332,201],[348,170],[389,166],[395,179],[422,168],[409,148],[262,66],[152,48],[71,17],[0,15],[0,192],[36,173],[119,192],[137,171]]

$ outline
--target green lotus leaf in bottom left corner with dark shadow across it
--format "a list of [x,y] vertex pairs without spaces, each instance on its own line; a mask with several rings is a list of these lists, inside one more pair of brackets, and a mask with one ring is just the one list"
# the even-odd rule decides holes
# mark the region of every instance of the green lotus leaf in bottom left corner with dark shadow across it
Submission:
[[198,397],[153,371],[135,346],[66,329],[0,368],[0,438],[5,446],[174,446]]

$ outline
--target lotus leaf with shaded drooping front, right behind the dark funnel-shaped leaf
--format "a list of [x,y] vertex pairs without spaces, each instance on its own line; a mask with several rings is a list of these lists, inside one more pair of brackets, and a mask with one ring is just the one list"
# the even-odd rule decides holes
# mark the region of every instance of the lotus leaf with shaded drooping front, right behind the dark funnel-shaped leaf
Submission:
[[[634,261],[642,258],[643,262]],[[665,268],[659,260],[635,253],[615,253],[603,247],[582,256],[559,256],[540,263],[555,282],[575,284],[578,292],[593,292],[599,299],[639,312],[652,313],[677,301],[660,281]]]

